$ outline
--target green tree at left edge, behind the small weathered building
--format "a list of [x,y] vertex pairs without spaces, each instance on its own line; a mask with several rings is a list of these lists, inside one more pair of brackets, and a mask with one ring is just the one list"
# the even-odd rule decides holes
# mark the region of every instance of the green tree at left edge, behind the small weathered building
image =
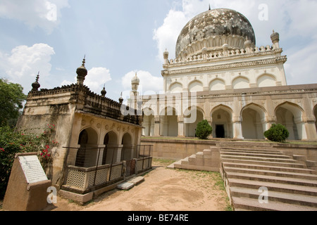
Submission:
[[20,84],[0,79],[0,126],[8,124],[11,127],[15,126],[25,99],[26,96],[23,94],[23,87]]

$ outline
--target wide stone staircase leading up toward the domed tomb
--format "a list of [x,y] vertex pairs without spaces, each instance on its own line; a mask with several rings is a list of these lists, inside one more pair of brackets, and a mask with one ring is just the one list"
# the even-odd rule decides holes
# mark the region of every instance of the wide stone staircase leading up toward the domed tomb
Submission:
[[316,170],[279,150],[220,146],[220,173],[236,211],[317,211]]

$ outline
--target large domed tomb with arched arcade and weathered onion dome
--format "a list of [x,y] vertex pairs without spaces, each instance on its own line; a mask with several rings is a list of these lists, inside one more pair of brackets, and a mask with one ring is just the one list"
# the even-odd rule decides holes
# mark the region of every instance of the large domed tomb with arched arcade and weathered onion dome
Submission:
[[280,123],[289,139],[317,140],[317,85],[287,86],[287,57],[274,30],[271,40],[256,46],[249,20],[231,9],[192,18],[180,32],[176,58],[163,53],[165,94],[142,96],[143,135],[195,136],[198,122],[208,120],[214,138],[264,139]]

